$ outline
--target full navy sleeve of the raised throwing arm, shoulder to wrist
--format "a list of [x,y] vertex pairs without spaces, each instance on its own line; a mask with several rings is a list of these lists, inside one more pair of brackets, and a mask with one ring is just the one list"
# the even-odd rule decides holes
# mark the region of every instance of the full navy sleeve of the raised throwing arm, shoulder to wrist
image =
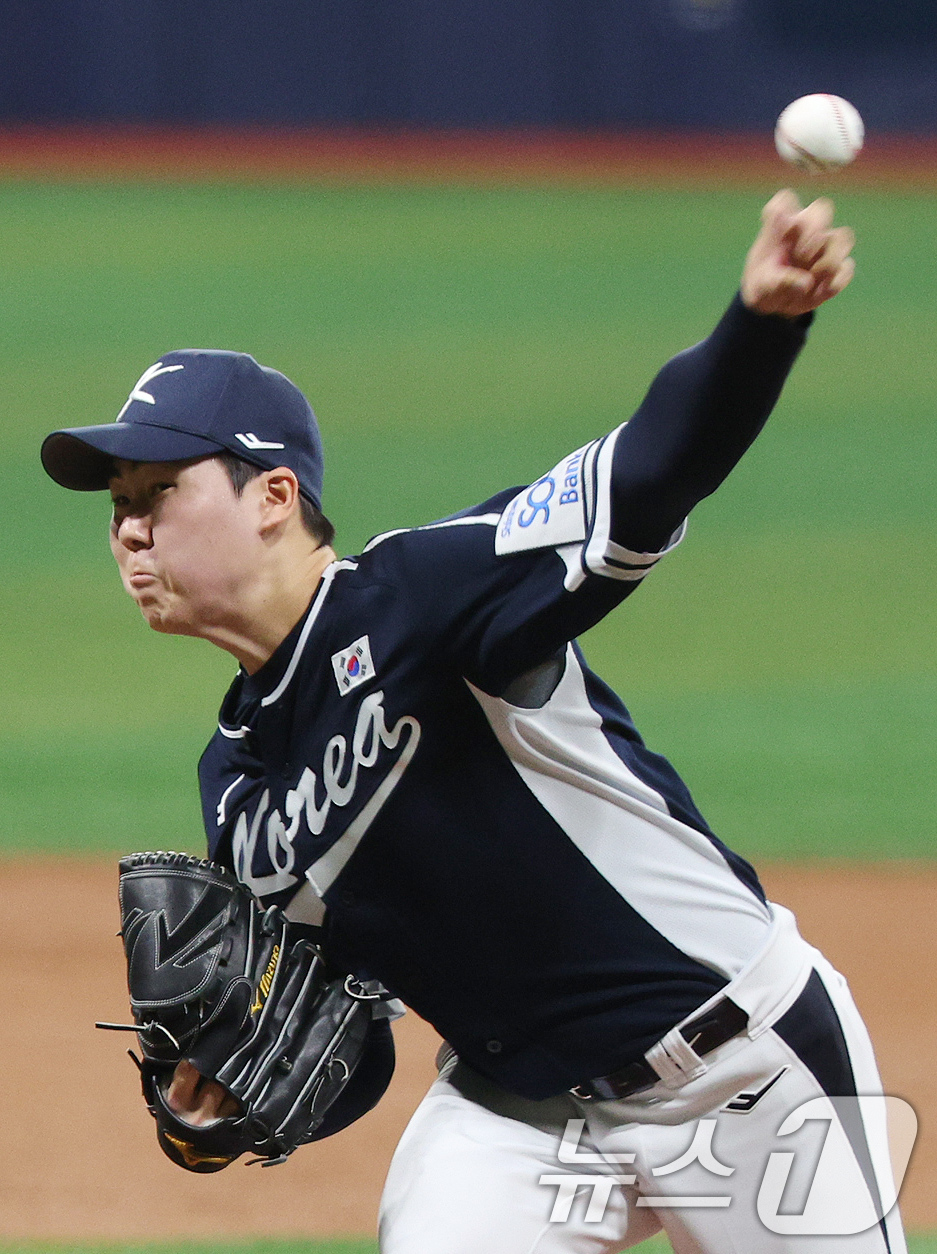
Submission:
[[494,696],[617,606],[680,543],[770,414],[807,321],[736,298],[635,415],[547,474],[421,528],[408,583],[434,645]]

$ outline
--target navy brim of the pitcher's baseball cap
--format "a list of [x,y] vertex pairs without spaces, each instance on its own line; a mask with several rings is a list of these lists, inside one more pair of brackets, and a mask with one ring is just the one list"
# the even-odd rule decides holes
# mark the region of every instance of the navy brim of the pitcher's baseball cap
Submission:
[[222,453],[223,444],[189,431],[143,423],[107,423],[53,431],[43,440],[43,466],[63,488],[100,492],[114,474],[114,459],[123,461],[186,461]]

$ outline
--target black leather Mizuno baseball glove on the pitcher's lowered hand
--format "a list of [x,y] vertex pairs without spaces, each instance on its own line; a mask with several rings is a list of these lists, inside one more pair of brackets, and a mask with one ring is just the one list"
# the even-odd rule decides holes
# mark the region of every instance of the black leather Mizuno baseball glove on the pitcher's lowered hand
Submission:
[[[263,910],[231,872],[188,854],[122,858],[119,897],[143,1096],[174,1162],[220,1171],[250,1151],[282,1162],[327,1135],[336,1101],[329,1134],[378,1101],[393,1046],[388,1057],[381,1023],[375,1048],[371,1002],[386,994],[330,969],[316,929]],[[363,1057],[364,1104],[339,1101]],[[176,1115],[166,1095],[182,1058],[238,1114],[201,1126]]]

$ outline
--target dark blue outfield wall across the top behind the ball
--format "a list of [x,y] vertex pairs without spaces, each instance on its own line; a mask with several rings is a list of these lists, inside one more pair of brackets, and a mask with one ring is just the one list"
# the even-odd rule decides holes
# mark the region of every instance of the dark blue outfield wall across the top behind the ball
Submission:
[[0,124],[937,130],[937,0],[0,0]]

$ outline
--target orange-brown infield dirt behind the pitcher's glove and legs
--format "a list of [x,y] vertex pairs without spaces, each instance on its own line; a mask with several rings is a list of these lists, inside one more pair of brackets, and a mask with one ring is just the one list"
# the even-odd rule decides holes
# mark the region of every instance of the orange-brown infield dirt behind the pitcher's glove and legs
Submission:
[[[886,1088],[918,1112],[903,1193],[908,1226],[937,1228],[937,868],[768,868],[775,900],[849,977]],[[364,1120],[272,1170],[213,1176],[159,1152],[125,1041],[113,863],[0,863],[0,1240],[370,1234],[393,1146],[433,1076],[435,1033],[398,1025],[399,1066]]]

